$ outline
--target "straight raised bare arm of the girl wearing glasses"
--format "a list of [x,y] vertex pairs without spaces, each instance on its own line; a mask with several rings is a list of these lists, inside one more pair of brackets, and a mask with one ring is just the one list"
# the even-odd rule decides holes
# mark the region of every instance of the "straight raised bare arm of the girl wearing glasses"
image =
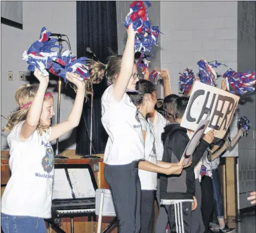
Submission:
[[119,101],[124,93],[126,92],[127,85],[132,76],[132,70],[134,65],[134,44],[136,32],[133,30],[132,24],[130,24],[127,30],[127,41],[126,48],[124,49],[124,54],[122,57],[120,73],[118,75],[117,81],[113,86],[113,96],[114,99]]

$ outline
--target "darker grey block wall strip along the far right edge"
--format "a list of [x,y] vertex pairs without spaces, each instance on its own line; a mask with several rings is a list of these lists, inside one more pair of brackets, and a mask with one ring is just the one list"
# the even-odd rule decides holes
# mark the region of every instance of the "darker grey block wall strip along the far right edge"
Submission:
[[[238,2],[237,70],[256,70],[255,49],[255,1]],[[250,191],[256,190],[256,122],[254,102],[239,106],[239,117],[245,116],[251,122],[247,137],[239,141],[239,192],[240,209],[251,206],[246,200]]]

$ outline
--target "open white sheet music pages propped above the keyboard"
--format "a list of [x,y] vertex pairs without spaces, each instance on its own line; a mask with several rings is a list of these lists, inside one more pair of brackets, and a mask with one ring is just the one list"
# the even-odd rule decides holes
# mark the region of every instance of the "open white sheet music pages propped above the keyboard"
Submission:
[[87,168],[54,170],[52,200],[90,197],[95,197],[95,188]]

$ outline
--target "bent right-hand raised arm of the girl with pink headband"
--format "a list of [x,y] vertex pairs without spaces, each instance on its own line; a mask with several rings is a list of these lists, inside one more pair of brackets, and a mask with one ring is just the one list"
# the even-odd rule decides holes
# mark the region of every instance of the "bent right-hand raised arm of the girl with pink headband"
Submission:
[[[73,75],[78,76],[75,73],[73,73]],[[68,131],[77,127],[77,125],[80,122],[83,105],[84,105],[84,92],[85,92],[86,85],[85,85],[85,82],[80,81],[78,78],[75,78],[70,73],[67,73],[66,79],[68,79],[68,81],[74,83],[77,86],[77,96],[75,97],[74,106],[72,108],[72,111],[68,119],[66,119],[66,121],[61,122],[60,124],[57,124],[51,127],[51,135],[50,135],[49,141],[57,139],[58,137],[67,133]]]

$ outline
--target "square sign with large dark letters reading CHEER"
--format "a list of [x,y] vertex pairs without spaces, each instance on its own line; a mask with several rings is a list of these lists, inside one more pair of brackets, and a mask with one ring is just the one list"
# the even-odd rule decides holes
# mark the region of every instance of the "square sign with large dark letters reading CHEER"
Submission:
[[202,82],[196,82],[182,118],[181,127],[196,130],[201,119],[210,112],[210,122],[205,133],[214,129],[214,136],[222,139],[236,111],[240,97],[212,87]]

